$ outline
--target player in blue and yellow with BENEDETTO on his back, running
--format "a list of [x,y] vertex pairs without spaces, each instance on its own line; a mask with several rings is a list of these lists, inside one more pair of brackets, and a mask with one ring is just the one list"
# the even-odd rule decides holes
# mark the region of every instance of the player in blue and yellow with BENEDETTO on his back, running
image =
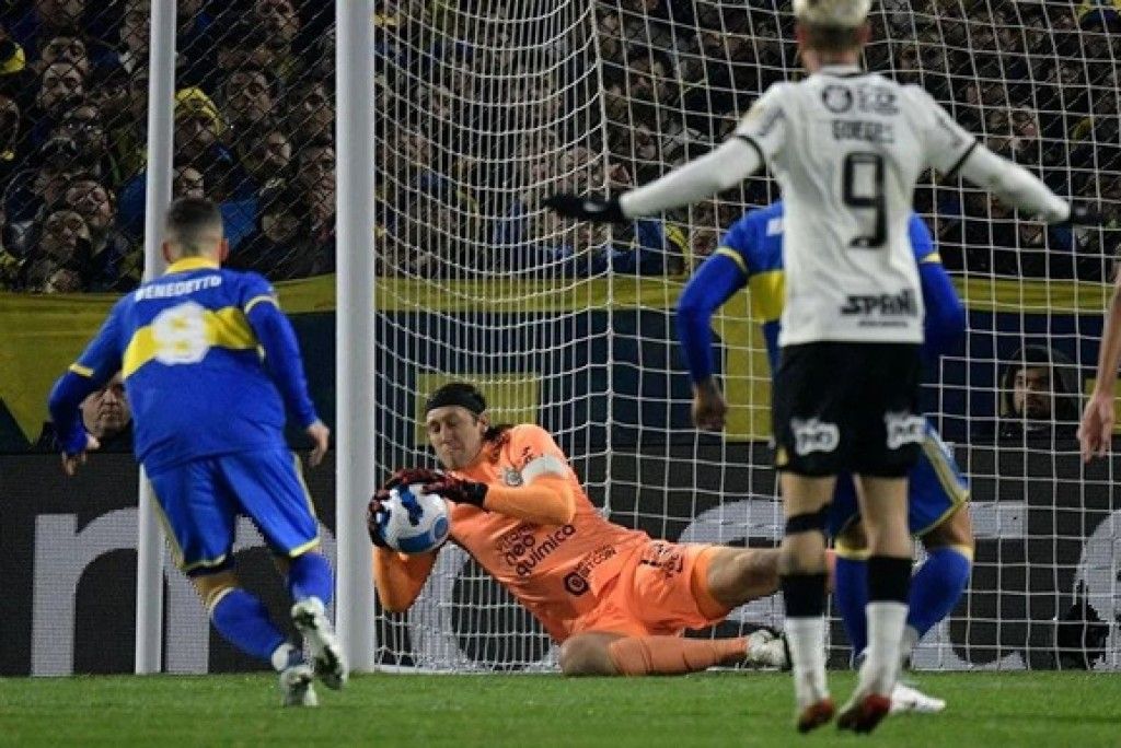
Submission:
[[[229,253],[217,207],[180,199],[167,214],[167,273],[120,299],[98,336],[50,393],[50,415],[73,474],[98,441],[78,404],[118,372],[132,405],[137,460],[151,481],[176,562],[222,636],[280,672],[285,705],[315,705],[313,674],[341,688],[346,667],[327,620],[331,567],[318,523],[284,439],[285,406],[314,440],[330,431],[307,394],[299,348],[269,283],[223,270]],[[233,570],[238,515],[258,527],[295,601],[309,645],[286,641]]]

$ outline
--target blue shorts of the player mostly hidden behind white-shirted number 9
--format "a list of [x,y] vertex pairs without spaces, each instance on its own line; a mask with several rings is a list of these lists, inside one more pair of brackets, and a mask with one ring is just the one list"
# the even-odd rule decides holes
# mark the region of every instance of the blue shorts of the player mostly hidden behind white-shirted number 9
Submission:
[[[970,499],[970,488],[954,456],[934,427],[927,423],[918,462],[907,474],[907,525],[912,535],[925,535]],[[851,475],[837,477],[830,506],[828,532],[836,537],[860,518],[856,486]]]

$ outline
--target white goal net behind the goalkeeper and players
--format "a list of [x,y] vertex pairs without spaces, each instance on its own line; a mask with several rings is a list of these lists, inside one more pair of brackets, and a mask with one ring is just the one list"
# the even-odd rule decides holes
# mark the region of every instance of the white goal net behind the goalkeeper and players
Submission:
[[[927,176],[916,193],[970,310],[925,394],[971,478],[978,542],[970,591],[915,664],[1114,670],[1121,505],[1112,465],[1084,468],[1074,429],[1119,235],[1121,17],[1104,1],[889,0],[872,24],[869,67],[921,84],[994,151],[1108,217],[1072,232],[956,181]],[[558,221],[540,199],[642,184],[723,140],[768,85],[799,75],[788,6],[402,1],[382,3],[376,27],[379,471],[433,464],[424,398],[469,380],[498,421],[554,433],[613,521],[775,545],[750,300],[714,324],[732,408],[722,438],[689,426],[673,319],[687,273],[745,209],[778,198],[775,183],[623,227]],[[781,614],[767,598],[695,635]],[[556,655],[451,545],[409,613],[379,614],[377,644],[382,666],[535,670]],[[831,662],[847,662],[836,621]]]

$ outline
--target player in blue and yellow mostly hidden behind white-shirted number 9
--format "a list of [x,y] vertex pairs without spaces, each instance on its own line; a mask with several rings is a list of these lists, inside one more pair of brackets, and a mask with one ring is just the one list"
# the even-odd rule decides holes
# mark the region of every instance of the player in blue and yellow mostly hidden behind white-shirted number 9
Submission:
[[[925,354],[935,357],[952,346],[965,327],[965,311],[930,237],[917,215],[908,227],[918,263],[926,306]],[[785,283],[782,271],[782,204],[749,212],[724,235],[719,249],[689,280],[677,303],[677,335],[693,381],[693,419],[698,428],[721,430],[728,405],[713,376],[712,316],[740,289],[750,289],[752,316],[762,321],[771,372],[778,368],[779,318]],[[909,475],[908,522],[926,548],[927,561],[915,573],[904,642],[909,658],[915,644],[949,615],[969,582],[973,560],[973,530],[967,511],[965,478],[949,450],[929,423],[921,457]],[[868,542],[851,476],[841,476],[830,507],[830,534],[835,539],[834,593],[854,653],[868,644],[864,606]],[[945,702],[897,685],[892,711],[941,711]]]

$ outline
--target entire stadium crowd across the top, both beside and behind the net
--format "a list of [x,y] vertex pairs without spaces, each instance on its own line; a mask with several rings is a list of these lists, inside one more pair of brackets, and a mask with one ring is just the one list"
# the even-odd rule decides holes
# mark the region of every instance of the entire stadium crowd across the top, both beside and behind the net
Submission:
[[[676,274],[744,206],[777,197],[758,177],[666,221],[610,230],[565,227],[538,207],[548,191],[647,181],[725,138],[798,67],[791,19],[769,3],[602,0],[544,49],[540,19],[517,18],[517,3],[470,24],[454,2],[377,6],[382,274]],[[177,10],[174,195],[221,203],[232,267],[271,280],[332,272],[333,4]],[[149,18],[149,0],[17,0],[0,15],[0,289],[138,282]],[[947,268],[1108,275],[1121,232],[1121,10],[887,0],[873,25],[869,67],[920,83],[990,148],[1109,216],[1103,231],[1047,227],[927,178],[916,207]]]

